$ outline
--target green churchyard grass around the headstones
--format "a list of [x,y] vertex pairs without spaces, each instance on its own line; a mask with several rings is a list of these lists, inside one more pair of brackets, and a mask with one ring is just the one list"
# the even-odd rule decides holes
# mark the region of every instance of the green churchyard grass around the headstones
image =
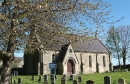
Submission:
[[[111,77],[111,84],[118,84],[118,78],[124,78],[127,84],[130,84],[130,72],[115,72],[115,73],[94,73],[88,75],[80,75],[82,77],[82,83],[86,84],[86,81],[93,80],[95,84],[104,84],[104,76]],[[61,84],[62,75],[57,75],[56,84]],[[43,84],[42,82],[38,82],[39,76],[35,76],[35,80],[32,81],[32,76],[13,76],[13,80],[18,80],[18,78],[22,79],[23,84]],[[78,76],[74,76],[75,80],[78,80]],[[50,84],[50,81],[49,83]],[[69,76],[67,76],[67,83],[73,84],[72,81],[69,80]]]

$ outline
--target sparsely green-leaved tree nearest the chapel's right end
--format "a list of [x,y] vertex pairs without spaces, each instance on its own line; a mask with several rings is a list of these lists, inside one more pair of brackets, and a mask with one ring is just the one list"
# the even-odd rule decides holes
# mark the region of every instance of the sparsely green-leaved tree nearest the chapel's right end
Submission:
[[108,31],[106,45],[111,50],[112,56],[118,59],[119,66],[121,66],[120,64],[120,59],[121,59],[120,39],[121,38],[119,36],[118,29],[115,28],[114,26],[111,26]]

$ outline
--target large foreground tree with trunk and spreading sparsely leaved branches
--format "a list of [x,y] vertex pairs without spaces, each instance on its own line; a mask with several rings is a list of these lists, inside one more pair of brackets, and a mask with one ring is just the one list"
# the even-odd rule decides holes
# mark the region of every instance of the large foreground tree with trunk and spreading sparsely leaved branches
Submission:
[[[9,82],[7,80],[11,73],[15,50],[26,47],[27,52],[45,51],[46,44],[56,42],[55,36],[65,36],[68,33],[86,35],[86,25],[91,23],[99,28],[101,23],[106,22],[108,19],[106,17],[110,13],[107,11],[108,7],[109,5],[101,0],[2,0],[0,2],[2,82]],[[81,29],[77,30],[77,26]]]

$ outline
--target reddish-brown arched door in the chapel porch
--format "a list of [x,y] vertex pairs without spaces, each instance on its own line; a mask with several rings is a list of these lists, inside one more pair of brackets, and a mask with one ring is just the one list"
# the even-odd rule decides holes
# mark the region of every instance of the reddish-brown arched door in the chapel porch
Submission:
[[69,59],[68,62],[67,62],[67,74],[74,74],[74,71],[75,71],[75,65],[74,65],[74,62]]

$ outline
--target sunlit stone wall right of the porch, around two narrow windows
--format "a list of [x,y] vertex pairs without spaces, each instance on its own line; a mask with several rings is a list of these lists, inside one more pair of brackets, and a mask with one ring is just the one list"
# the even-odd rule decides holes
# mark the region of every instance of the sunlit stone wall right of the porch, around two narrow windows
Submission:
[[[89,74],[97,72],[96,64],[99,64],[99,73],[109,71],[109,54],[102,53],[89,53],[89,52],[76,52],[76,56],[79,60],[79,66],[83,64],[83,73]],[[89,67],[89,56],[91,56],[92,66]],[[96,59],[97,56],[97,59]],[[103,56],[105,56],[106,66],[103,66]],[[82,61],[81,61],[82,60]]]

